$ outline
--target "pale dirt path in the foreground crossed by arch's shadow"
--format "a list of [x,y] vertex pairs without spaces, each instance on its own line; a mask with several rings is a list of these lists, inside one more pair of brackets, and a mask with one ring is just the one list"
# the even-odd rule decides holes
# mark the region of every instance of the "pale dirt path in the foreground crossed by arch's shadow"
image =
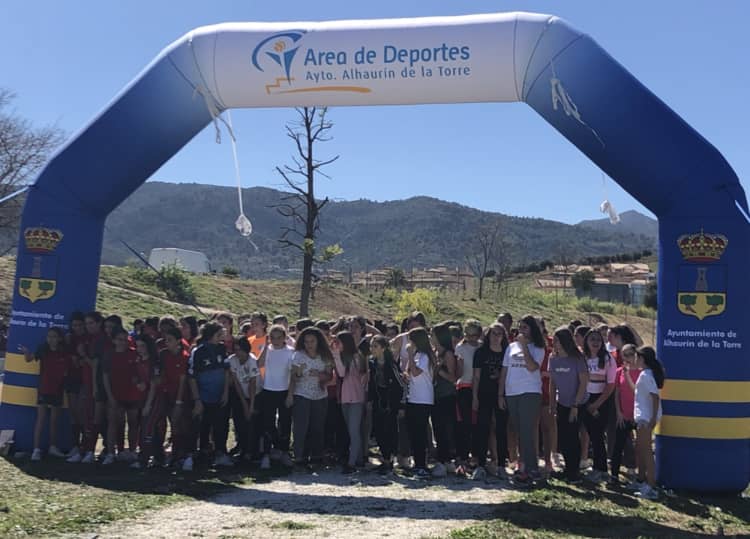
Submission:
[[[507,498],[497,480],[415,481],[375,474],[295,473],[210,500],[153,511],[95,532],[101,538],[429,537],[492,517]],[[86,537],[92,537],[89,533]]]

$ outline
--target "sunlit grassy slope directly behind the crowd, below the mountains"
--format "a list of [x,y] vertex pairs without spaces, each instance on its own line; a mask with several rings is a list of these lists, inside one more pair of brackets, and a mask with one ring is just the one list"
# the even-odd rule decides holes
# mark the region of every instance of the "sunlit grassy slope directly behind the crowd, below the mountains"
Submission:
[[[14,287],[15,260],[0,257],[0,316],[8,317]],[[235,314],[262,310],[269,315],[286,314],[296,318],[299,283],[297,281],[249,281],[219,275],[191,277],[197,303],[205,315],[218,310]],[[371,319],[396,318],[400,294],[395,290],[353,290],[341,285],[321,285],[311,301],[311,316],[332,319],[342,314],[361,314]],[[574,318],[585,323],[600,319],[608,323],[627,320],[652,342],[654,312],[623,305],[577,300],[560,293],[532,288],[530,276],[517,276],[501,290],[489,288],[482,301],[476,299],[475,290],[465,292],[436,292],[432,321],[469,317],[489,323],[498,313],[509,311],[515,318],[524,314],[544,316],[548,327],[554,329]],[[129,267],[102,266],[97,308],[105,313],[117,313],[126,322],[136,317],[172,314],[200,316],[189,305],[174,303],[166,295],[138,278],[138,271]]]

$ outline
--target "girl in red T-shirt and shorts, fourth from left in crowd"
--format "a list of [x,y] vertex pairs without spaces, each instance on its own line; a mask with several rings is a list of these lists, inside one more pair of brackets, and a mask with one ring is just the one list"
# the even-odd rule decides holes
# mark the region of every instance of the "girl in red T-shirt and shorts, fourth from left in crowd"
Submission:
[[134,460],[133,450],[136,439],[132,432],[138,431],[138,415],[145,391],[145,380],[138,375],[138,354],[129,347],[128,333],[123,328],[112,331],[114,349],[105,354],[102,365],[102,381],[107,395],[109,425],[107,429],[107,456],[102,464],[109,465],[115,461],[115,446],[118,432],[125,427],[128,420],[129,450],[119,447],[121,460]]

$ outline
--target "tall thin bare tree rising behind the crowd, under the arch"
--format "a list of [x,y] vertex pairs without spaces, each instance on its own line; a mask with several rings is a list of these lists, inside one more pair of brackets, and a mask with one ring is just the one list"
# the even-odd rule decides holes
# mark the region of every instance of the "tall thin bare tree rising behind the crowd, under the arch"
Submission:
[[328,261],[342,252],[338,245],[320,250],[315,245],[315,238],[320,231],[320,211],[328,204],[328,197],[321,201],[315,198],[316,174],[329,178],[320,169],[336,161],[339,156],[320,160],[313,153],[316,143],[331,140],[328,132],[333,124],[326,119],[327,109],[304,107],[295,110],[299,118],[286,125],[286,134],[294,141],[297,149],[297,155],[292,156],[294,166],[276,167],[292,191],[282,197],[281,202],[274,207],[281,215],[291,220],[290,224],[282,227],[279,242],[284,247],[293,247],[302,253],[299,315],[306,317],[310,314],[313,265],[316,262]]

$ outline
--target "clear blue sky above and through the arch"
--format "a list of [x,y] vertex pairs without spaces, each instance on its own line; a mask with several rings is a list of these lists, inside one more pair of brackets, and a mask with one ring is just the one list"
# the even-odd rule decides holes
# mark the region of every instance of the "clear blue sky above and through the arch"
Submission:
[[[750,2],[461,2],[436,0],[159,0],[4,2],[0,85],[17,111],[73,133],[158,52],[190,29],[226,21],[331,20],[536,11],[590,34],[713,143],[750,190]],[[292,110],[237,110],[246,187],[280,187]],[[336,199],[430,195],[510,215],[564,222],[602,217],[601,173],[522,104],[331,109],[340,154],[319,192]],[[152,179],[234,184],[231,148],[207,128]],[[533,197],[529,188],[533,186]],[[618,210],[642,208],[611,180]],[[252,220],[252,216],[250,216]]]

